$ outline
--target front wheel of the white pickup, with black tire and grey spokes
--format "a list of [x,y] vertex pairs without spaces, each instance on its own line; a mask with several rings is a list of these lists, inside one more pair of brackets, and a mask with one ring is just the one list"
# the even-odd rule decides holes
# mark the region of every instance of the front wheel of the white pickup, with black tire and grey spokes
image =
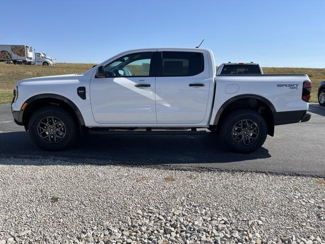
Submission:
[[62,150],[77,137],[76,123],[63,108],[47,106],[31,115],[28,123],[31,140],[45,150]]

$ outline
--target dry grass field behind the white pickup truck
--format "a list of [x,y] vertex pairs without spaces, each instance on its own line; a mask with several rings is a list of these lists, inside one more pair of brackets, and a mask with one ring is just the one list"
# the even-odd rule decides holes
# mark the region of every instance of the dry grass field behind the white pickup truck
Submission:
[[[57,64],[57,66],[8,65],[0,63],[0,104],[12,100],[12,90],[17,81],[26,78],[84,73],[92,64]],[[263,68],[265,74],[307,74],[313,82],[311,102],[317,102],[319,82],[325,80],[325,69]]]

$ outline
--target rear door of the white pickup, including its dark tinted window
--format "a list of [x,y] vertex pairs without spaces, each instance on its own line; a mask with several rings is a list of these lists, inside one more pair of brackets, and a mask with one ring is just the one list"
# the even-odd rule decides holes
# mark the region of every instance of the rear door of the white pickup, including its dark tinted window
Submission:
[[209,64],[204,51],[165,51],[156,77],[159,124],[197,124],[203,121],[209,97]]

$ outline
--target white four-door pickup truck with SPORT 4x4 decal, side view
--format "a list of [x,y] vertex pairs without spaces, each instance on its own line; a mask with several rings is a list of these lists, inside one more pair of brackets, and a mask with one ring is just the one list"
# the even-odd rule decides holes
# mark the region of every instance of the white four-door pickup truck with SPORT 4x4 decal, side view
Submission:
[[211,50],[147,48],[120,53],[84,74],[20,80],[12,113],[47,150],[85,131],[207,128],[233,151],[260,148],[274,126],[308,121],[307,75],[216,75]]

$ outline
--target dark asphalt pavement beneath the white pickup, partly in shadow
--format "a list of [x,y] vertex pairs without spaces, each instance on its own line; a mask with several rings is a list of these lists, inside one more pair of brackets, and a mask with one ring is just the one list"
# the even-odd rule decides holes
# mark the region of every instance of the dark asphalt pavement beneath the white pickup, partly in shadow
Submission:
[[[325,177],[325,108],[310,105],[307,123],[278,126],[264,146],[234,154],[211,133],[203,135],[89,135],[66,151],[48,152],[32,144],[12,121],[10,105],[0,105],[0,156],[60,157],[89,163],[172,165]],[[1,163],[1,158],[0,158]]]

